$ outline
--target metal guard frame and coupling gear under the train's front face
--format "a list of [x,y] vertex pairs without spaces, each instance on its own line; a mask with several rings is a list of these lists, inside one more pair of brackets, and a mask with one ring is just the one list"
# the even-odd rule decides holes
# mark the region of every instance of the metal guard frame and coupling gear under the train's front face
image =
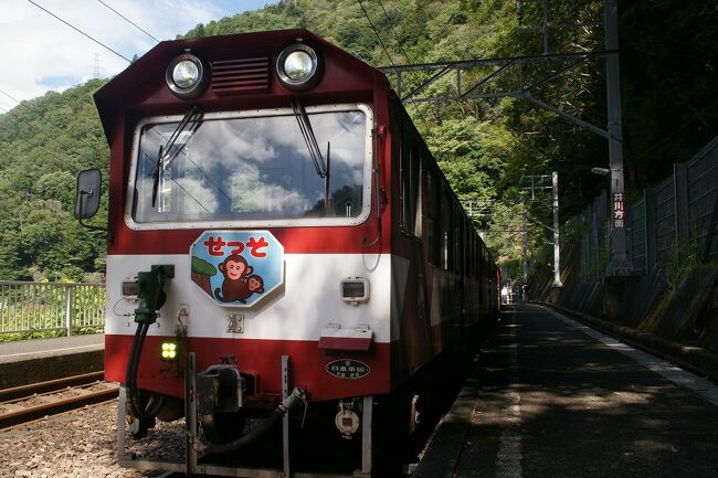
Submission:
[[[151,469],[161,471],[184,472],[187,475],[221,475],[234,477],[297,477],[297,478],[312,478],[312,477],[371,477],[372,476],[372,418],[374,415],[374,396],[359,397],[360,403],[357,403],[356,411],[344,415],[345,426],[348,427],[347,437],[351,435],[353,440],[352,448],[359,455],[359,460],[352,460],[357,466],[347,468],[344,474],[331,471],[327,472],[313,472],[313,471],[297,471],[293,469],[293,427],[302,427],[306,407],[308,405],[305,391],[295,387],[291,383],[291,359],[288,355],[282,357],[282,385],[283,385],[283,401],[268,415],[258,419],[249,432],[242,434],[243,423],[237,425],[237,433],[235,436],[239,438],[230,439],[228,443],[210,443],[207,439],[208,424],[202,422],[201,417],[212,416],[212,412],[226,410],[226,403],[218,403],[218,387],[203,385],[202,382],[208,382],[207,376],[212,375],[212,371],[198,372],[196,370],[196,357],[193,352],[187,353],[184,367],[184,396],[190,400],[184,400],[183,415],[184,415],[184,459],[183,461],[160,460],[147,457],[138,457],[136,453],[129,452],[128,437],[141,437],[146,435],[147,423],[135,418],[131,414],[127,413],[130,408],[129,391],[126,386],[120,389],[119,403],[118,403],[118,418],[117,418],[117,447],[118,447],[118,464],[127,468]],[[230,370],[230,369],[228,369]],[[236,370],[236,369],[233,369]],[[219,383],[218,383],[219,384]],[[220,399],[220,402],[225,402],[225,399]],[[356,399],[355,399],[356,402]],[[339,402],[341,403],[341,401]],[[352,403],[352,402],[347,402]],[[212,405],[215,410],[210,410]],[[313,404],[313,406],[315,406]],[[204,410],[203,410],[204,408]],[[292,412],[295,412],[294,414]],[[358,412],[358,413],[357,413]],[[293,419],[292,416],[298,416],[299,419]],[[341,421],[341,411],[337,414],[337,421]],[[226,419],[230,414],[224,415]],[[236,415],[235,415],[236,416]],[[243,452],[254,440],[260,440],[263,435],[276,435],[279,428],[277,422],[282,423],[282,456],[281,463],[277,463],[276,456],[266,459],[267,463],[274,466],[245,466],[242,465]],[[298,423],[294,423],[298,422]],[[226,424],[225,424],[226,425]],[[337,423],[340,426],[340,423]],[[141,429],[145,428],[145,429]],[[351,429],[353,428],[353,429]],[[226,428],[225,428],[226,431]],[[336,436],[341,439],[339,432]],[[203,439],[204,438],[204,439]],[[224,442],[221,439],[220,442]],[[275,454],[276,455],[276,454]],[[235,465],[232,458],[239,458]],[[252,460],[250,460],[252,461]],[[357,463],[358,461],[358,463]]]

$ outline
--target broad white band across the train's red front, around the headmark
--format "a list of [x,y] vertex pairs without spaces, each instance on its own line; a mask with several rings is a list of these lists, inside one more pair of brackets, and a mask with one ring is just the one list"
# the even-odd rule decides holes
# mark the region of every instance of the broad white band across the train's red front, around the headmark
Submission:
[[[109,334],[133,334],[131,314],[137,304],[120,296],[120,282],[154,264],[172,264],[175,278],[168,280],[167,302],[150,336],[172,336],[180,307],[189,308],[182,319],[190,337],[220,337],[261,340],[319,340],[329,323],[355,329],[369,326],[376,343],[391,337],[391,256],[377,254],[285,254],[284,285],[251,308],[222,307],[190,279],[189,254],[108,255],[107,322]],[[341,299],[341,279],[365,277],[369,280],[369,300],[351,305]],[[244,332],[226,331],[228,316],[244,316]]]

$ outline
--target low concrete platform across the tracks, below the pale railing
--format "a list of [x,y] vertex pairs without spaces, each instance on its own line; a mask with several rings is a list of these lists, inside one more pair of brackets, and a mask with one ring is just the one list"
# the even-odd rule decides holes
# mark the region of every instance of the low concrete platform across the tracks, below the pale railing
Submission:
[[102,333],[0,342],[0,389],[98,372],[104,354]]

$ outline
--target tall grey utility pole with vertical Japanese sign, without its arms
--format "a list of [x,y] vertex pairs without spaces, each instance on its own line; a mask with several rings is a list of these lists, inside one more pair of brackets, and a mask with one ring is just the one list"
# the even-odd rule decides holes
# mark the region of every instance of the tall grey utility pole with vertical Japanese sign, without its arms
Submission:
[[611,169],[611,261],[606,276],[627,276],[633,261],[627,244],[626,195],[623,171],[623,134],[621,129],[621,78],[619,68],[619,7],[616,0],[603,1],[605,28],[605,85],[609,116],[609,167]]

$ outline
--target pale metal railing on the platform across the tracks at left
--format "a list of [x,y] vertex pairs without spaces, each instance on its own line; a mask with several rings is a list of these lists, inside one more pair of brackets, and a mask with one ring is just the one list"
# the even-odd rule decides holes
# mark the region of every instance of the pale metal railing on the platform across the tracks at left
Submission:
[[0,333],[103,327],[105,286],[0,282]]

